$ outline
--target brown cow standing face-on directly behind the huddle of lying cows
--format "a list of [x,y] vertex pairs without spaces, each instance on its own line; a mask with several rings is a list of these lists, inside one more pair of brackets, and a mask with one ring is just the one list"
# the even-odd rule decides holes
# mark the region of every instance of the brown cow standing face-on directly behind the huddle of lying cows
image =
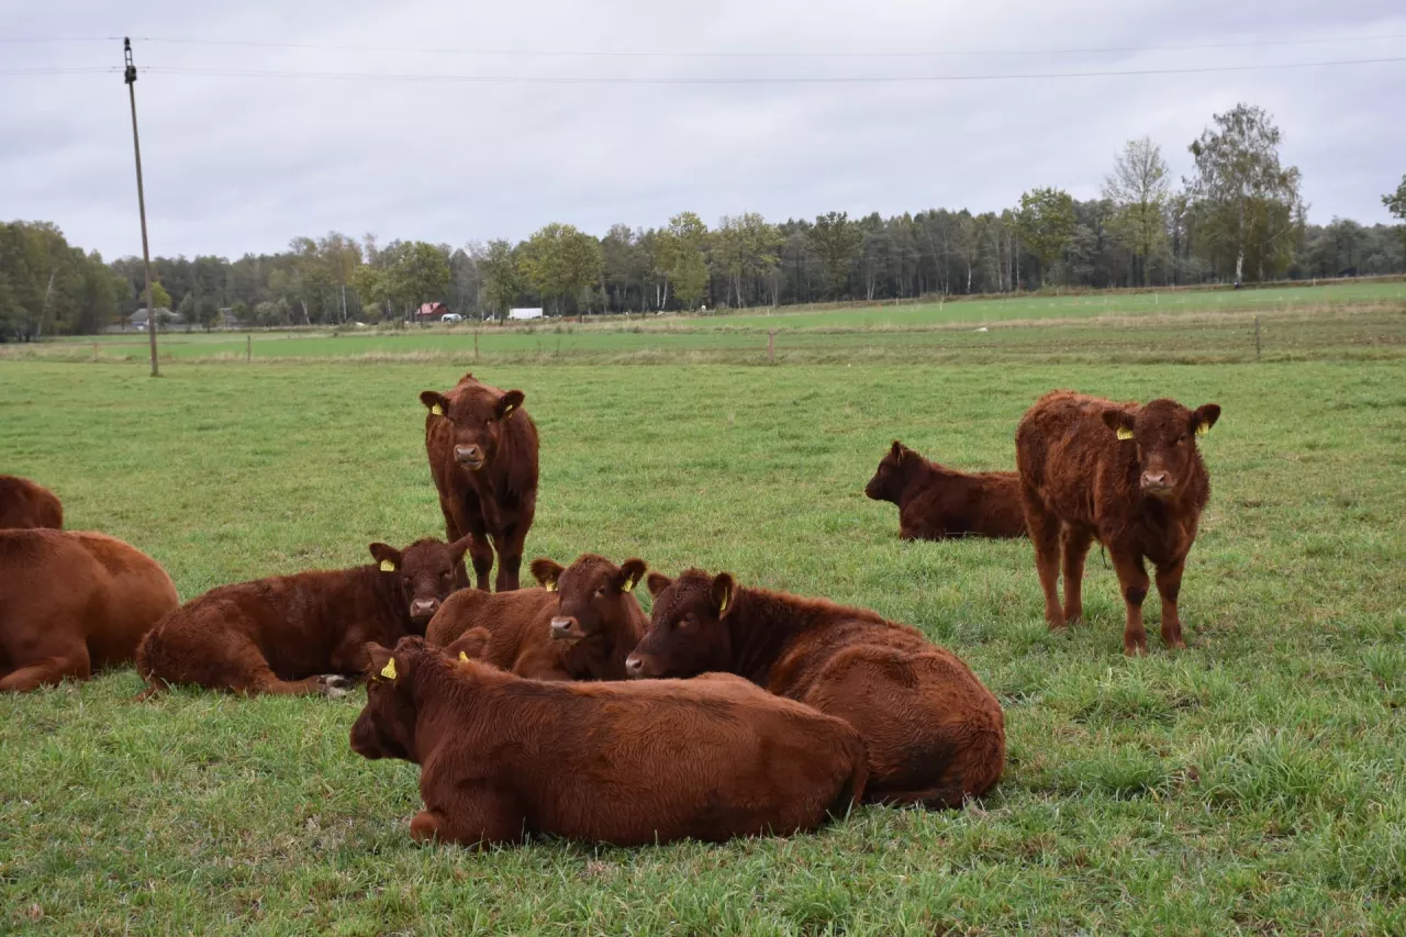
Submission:
[[420,402],[429,409],[425,452],[449,539],[472,537],[468,554],[478,588],[488,591],[498,550],[495,588],[516,589],[537,512],[537,426],[523,409],[523,393],[501,391],[470,373],[447,394],[422,393]]

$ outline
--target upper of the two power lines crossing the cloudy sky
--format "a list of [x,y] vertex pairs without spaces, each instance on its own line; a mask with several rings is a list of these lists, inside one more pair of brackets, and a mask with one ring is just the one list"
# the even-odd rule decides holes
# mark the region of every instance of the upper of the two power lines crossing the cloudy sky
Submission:
[[[1128,55],[1137,52],[1204,52],[1215,49],[1244,49],[1296,45],[1339,45],[1358,42],[1389,42],[1406,39],[1406,34],[1358,35],[1358,37],[1313,37],[1303,39],[1244,39],[1232,42],[1187,44],[1187,45],[1129,45],[1091,48],[1033,48],[1033,49],[931,49],[931,51],[600,51],[600,49],[475,49],[464,46],[422,46],[422,45],[357,45],[318,42],[269,42],[259,39],[194,39],[172,37],[136,37],[142,42],[169,45],[211,45],[256,49],[299,49],[322,52],[413,52],[418,55],[467,55],[499,58],[621,58],[621,59],[934,59],[974,56],[1038,56],[1038,55]],[[65,44],[65,42],[115,42],[121,37],[56,37],[56,38],[0,38],[0,44]]]

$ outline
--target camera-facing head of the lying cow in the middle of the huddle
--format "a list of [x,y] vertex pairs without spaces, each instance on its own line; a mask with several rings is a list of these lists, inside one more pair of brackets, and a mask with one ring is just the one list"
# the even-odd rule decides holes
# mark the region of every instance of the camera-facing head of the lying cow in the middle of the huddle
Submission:
[[[533,560],[531,574],[558,594],[551,619],[553,640],[581,640],[617,630],[630,620],[634,587],[648,568],[644,560],[616,566],[603,556],[583,553],[569,567],[546,557]],[[638,605],[636,605],[638,608]]]

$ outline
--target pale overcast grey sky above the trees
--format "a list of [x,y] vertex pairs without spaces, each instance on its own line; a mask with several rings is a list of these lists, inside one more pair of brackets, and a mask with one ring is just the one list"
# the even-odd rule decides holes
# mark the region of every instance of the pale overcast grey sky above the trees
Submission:
[[[107,259],[142,246],[122,35],[153,256],[1092,198],[1130,138],[1191,174],[1240,101],[1310,221],[1391,222],[1406,173],[1400,0],[3,1],[0,219]],[[1398,60],[1184,72],[1360,59]],[[1090,72],[1125,75],[1047,77]]]

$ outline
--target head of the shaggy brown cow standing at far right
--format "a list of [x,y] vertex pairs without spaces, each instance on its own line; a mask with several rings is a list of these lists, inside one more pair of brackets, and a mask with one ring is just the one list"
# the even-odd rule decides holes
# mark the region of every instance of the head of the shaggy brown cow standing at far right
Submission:
[[1139,467],[1137,485],[1152,498],[1167,499],[1191,477],[1197,436],[1220,418],[1218,404],[1187,409],[1174,400],[1144,407],[1107,407],[1104,423],[1115,446],[1132,446]]

